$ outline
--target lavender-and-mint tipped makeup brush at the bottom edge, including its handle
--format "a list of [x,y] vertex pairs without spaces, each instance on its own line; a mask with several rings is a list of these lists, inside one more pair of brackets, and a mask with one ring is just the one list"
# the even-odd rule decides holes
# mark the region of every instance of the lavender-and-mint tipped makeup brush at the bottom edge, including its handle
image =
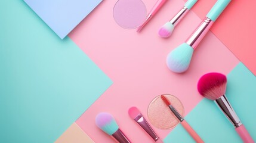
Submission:
[[96,116],[95,123],[98,126],[98,128],[100,128],[101,130],[103,130],[103,132],[107,133],[113,138],[115,138],[116,141],[121,143],[130,143],[129,139],[119,129],[118,124],[116,123],[115,119],[111,114],[109,113],[98,114]]

